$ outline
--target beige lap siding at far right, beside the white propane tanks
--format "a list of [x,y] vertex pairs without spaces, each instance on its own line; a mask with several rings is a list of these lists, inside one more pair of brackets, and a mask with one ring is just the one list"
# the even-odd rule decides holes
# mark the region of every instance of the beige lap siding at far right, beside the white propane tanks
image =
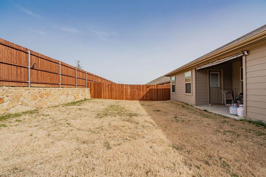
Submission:
[[266,44],[246,56],[247,117],[266,121]]

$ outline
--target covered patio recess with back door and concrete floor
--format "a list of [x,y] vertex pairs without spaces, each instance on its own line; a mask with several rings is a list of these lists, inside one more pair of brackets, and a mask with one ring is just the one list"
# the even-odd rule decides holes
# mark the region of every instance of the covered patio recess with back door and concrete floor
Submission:
[[[234,98],[244,91],[243,55],[236,55],[196,68],[196,108],[239,119],[238,116],[229,113],[229,107],[235,102]],[[231,100],[228,99],[228,95],[224,95],[224,91],[232,92]],[[243,102],[235,103],[242,104]]]

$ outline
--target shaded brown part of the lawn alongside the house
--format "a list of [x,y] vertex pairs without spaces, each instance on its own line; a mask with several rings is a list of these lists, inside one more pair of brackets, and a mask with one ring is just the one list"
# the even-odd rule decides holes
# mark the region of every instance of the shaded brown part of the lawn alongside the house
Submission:
[[140,101],[195,176],[266,176],[266,128],[176,101]]

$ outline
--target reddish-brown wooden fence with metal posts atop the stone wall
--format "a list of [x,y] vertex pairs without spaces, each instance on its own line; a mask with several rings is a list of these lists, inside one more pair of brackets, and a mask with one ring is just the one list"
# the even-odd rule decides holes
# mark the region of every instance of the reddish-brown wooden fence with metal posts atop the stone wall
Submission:
[[90,82],[114,83],[0,38],[0,86],[87,88]]

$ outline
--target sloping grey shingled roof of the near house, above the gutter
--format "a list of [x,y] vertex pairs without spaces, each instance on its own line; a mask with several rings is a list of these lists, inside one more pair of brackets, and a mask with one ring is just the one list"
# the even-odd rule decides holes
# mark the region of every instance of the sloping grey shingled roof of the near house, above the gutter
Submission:
[[247,34],[245,34],[245,35],[243,35],[243,36],[241,36],[241,37],[239,37],[239,38],[237,38],[237,39],[235,39],[235,40],[233,40],[233,41],[231,41],[231,42],[229,42],[229,43],[227,43],[227,44],[225,44],[225,45],[223,45],[223,46],[221,46],[221,47],[219,47],[219,48],[217,48],[217,49],[215,49],[215,50],[213,50],[213,51],[211,51],[211,52],[209,52],[209,53],[207,53],[205,55],[203,55],[203,56],[201,56],[200,58],[192,60],[191,62],[189,62],[189,63],[187,63],[187,64],[185,64],[185,65],[183,65],[183,66],[181,66],[181,67],[179,67],[179,68],[177,68],[177,69],[175,69],[175,70],[173,70],[173,71],[171,71],[171,72],[169,72],[167,74],[165,74],[164,76],[170,76],[171,74],[176,73],[176,72],[178,72],[179,70],[181,70],[183,68],[186,68],[185,66],[191,67],[191,65],[190,65],[191,63],[195,63],[195,62],[197,62],[197,61],[199,61],[199,60],[201,60],[203,58],[207,58],[211,54],[214,54],[214,53],[216,53],[216,52],[218,52],[220,50],[223,50],[223,49],[225,49],[225,48],[227,48],[227,47],[229,47],[231,45],[234,45],[234,44],[236,44],[238,42],[241,42],[241,41],[243,41],[243,40],[245,40],[245,39],[247,39],[249,37],[252,37],[252,36],[254,36],[254,35],[256,35],[256,34],[258,34],[260,32],[263,32],[263,31],[266,31],[266,24],[263,25],[262,27],[257,28],[256,30],[253,30],[253,31],[251,31],[251,32],[249,32],[249,33],[247,33]]

